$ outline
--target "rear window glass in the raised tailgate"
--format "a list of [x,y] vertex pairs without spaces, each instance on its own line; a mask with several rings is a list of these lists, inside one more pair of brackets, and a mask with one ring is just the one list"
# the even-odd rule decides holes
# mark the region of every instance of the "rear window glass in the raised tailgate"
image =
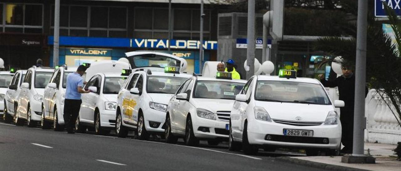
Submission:
[[161,56],[155,54],[143,54],[137,56],[128,57],[131,66],[133,68],[140,67],[159,67],[164,68],[166,66],[180,66],[180,60],[168,56]]

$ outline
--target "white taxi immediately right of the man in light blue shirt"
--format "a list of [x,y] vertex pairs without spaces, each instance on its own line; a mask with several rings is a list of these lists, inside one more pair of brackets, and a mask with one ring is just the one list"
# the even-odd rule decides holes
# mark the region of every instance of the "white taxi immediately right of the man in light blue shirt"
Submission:
[[81,109],[75,122],[75,130],[84,133],[95,130],[96,135],[107,135],[115,127],[117,94],[124,84],[124,78],[115,73],[97,73],[89,79],[82,94]]

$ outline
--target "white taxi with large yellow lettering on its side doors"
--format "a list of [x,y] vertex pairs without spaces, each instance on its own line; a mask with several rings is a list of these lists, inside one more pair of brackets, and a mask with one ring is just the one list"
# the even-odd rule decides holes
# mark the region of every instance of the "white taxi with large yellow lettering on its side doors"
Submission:
[[178,67],[166,67],[164,72],[137,69],[130,74],[118,93],[117,136],[126,137],[128,129],[135,129],[140,139],[163,134],[167,103],[190,77],[180,74]]

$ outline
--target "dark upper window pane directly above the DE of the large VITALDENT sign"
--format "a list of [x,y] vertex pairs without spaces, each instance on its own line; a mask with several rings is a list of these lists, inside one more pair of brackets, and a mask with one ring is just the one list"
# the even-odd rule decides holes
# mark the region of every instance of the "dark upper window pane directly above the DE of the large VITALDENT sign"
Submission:
[[191,30],[191,10],[174,10],[174,30]]

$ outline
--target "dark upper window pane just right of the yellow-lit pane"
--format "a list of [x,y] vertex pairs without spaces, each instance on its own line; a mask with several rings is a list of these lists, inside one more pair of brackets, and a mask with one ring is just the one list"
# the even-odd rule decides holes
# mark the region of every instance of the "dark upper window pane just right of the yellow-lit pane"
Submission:
[[42,26],[42,5],[25,5],[25,25]]

